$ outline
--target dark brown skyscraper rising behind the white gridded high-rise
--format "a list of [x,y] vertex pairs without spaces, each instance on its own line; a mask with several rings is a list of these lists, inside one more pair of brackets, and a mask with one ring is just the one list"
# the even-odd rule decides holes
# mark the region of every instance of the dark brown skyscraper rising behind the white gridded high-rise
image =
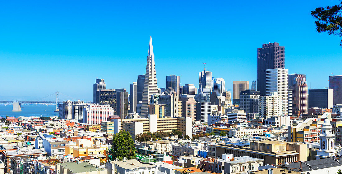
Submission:
[[279,43],[263,44],[258,48],[258,91],[266,95],[266,69],[285,67],[285,47]]

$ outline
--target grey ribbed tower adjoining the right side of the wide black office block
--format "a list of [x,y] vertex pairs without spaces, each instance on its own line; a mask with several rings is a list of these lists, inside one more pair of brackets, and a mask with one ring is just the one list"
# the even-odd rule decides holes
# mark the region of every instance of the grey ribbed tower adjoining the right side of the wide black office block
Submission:
[[126,89],[116,89],[116,115],[126,118],[128,114],[128,92]]

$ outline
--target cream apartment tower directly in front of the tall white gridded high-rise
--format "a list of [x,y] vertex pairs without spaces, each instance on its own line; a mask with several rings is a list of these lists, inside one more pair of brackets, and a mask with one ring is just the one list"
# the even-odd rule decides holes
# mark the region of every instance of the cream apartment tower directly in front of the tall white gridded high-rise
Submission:
[[268,96],[260,96],[259,104],[261,118],[283,115],[283,98],[277,95],[276,92]]

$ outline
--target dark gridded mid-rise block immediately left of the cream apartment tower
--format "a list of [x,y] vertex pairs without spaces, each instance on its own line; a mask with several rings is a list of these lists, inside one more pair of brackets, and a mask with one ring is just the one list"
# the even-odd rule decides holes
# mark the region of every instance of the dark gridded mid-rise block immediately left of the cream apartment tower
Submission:
[[240,92],[240,110],[246,113],[259,113],[260,92],[246,90]]

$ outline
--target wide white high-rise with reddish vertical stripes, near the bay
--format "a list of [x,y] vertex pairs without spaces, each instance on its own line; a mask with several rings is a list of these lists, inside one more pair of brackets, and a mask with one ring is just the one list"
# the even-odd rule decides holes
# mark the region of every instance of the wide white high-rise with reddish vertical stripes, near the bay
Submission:
[[107,121],[109,116],[115,114],[114,108],[109,105],[88,105],[83,109],[83,123],[90,125],[101,124],[102,121]]

